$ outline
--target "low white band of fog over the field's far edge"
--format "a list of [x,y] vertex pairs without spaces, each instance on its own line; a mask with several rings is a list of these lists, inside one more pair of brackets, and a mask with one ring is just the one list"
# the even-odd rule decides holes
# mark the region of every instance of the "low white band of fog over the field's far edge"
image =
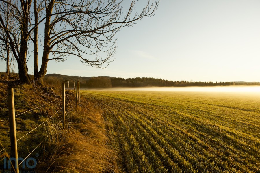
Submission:
[[215,87],[115,87],[115,88],[81,88],[81,90],[102,91],[199,91],[199,92],[239,92],[260,94],[260,86],[215,86]]

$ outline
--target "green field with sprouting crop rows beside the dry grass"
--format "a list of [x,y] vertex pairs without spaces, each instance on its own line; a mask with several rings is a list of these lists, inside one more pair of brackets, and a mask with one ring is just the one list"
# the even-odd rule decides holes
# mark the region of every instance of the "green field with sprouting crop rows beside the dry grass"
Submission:
[[84,91],[123,172],[260,172],[260,96]]

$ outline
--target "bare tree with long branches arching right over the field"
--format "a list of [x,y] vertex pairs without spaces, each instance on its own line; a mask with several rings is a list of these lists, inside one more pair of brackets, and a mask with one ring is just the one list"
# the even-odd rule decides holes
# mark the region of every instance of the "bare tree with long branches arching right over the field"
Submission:
[[[147,1],[139,13],[135,13],[137,0],[132,0],[125,11],[121,3],[117,0],[50,0],[46,4],[42,64],[36,75],[38,83],[43,81],[49,60],[63,61],[69,55],[79,57],[85,65],[104,68],[102,65],[106,64],[106,67],[113,61],[116,32],[144,16],[153,16],[159,1]],[[103,58],[98,56],[101,52],[105,54]]]

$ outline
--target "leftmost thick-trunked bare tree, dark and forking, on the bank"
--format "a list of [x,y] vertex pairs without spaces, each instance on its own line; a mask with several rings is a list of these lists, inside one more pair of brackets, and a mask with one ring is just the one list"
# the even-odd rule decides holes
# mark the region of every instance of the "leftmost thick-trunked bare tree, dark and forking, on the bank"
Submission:
[[[0,39],[4,42],[8,42],[10,44],[10,49],[12,50],[12,54],[14,55],[19,71],[19,78],[23,82],[30,82],[28,76],[28,68],[26,65],[27,59],[27,48],[28,48],[28,39],[29,32],[28,27],[30,26],[29,21],[29,13],[31,8],[31,0],[19,2],[16,0],[1,0],[0,1],[0,27],[5,30],[8,40],[0,37]],[[7,27],[6,21],[3,19],[3,15],[6,11],[4,10],[4,5],[10,6],[9,16],[14,19],[15,29],[10,30]]]

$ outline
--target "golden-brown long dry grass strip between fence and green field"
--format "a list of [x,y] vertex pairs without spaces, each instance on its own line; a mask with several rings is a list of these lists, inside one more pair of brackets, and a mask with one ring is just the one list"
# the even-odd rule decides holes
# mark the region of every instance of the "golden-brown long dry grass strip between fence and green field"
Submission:
[[[52,132],[45,154],[50,157],[38,163],[38,171],[48,167],[47,172],[119,172],[101,113],[84,98],[81,103],[77,112],[68,115],[66,129]],[[49,133],[55,125],[48,127]]]

